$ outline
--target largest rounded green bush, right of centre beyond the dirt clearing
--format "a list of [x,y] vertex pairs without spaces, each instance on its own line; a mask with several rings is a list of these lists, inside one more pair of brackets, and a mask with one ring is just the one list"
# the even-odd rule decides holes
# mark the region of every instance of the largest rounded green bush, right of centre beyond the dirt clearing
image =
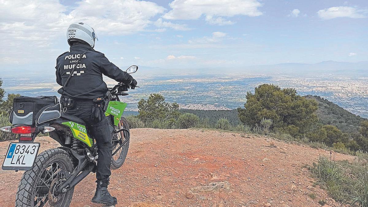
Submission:
[[302,135],[315,126],[317,102],[305,99],[293,88],[281,89],[277,85],[263,84],[255,88],[254,94],[247,93],[244,109],[238,109],[238,116],[244,124],[254,126],[265,119],[273,120],[273,127],[287,130],[289,126],[298,129]]

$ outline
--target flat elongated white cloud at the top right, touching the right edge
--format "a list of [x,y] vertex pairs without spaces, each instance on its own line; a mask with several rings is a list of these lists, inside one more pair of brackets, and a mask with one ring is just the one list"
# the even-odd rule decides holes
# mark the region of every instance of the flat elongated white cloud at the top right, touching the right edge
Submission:
[[317,12],[318,16],[325,20],[337,17],[365,18],[368,10],[358,10],[356,7],[330,7],[321,9]]

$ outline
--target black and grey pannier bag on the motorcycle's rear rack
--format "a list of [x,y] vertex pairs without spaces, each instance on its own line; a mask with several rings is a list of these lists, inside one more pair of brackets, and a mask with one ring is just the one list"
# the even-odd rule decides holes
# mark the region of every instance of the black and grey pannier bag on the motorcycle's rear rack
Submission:
[[11,124],[36,125],[57,119],[61,115],[61,105],[56,96],[14,98]]

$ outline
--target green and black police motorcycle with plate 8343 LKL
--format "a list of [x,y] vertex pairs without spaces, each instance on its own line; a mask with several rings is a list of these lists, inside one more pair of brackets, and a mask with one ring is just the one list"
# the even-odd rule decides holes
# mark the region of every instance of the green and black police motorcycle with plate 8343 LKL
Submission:
[[[131,66],[126,72],[135,73],[137,70],[138,66]],[[110,95],[105,100],[104,111],[113,143],[110,169],[118,169],[125,161],[130,139],[129,124],[122,116],[127,103],[120,102],[119,96],[128,95],[125,91],[134,87],[119,83],[108,89],[107,94]],[[57,100],[55,103],[59,104]],[[18,186],[15,206],[67,207],[71,203],[74,187],[89,173],[96,172],[97,145],[86,123],[76,116],[60,112],[58,119],[37,123],[0,129],[20,134],[19,142],[10,143],[2,166],[4,170],[25,170]],[[39,133],[49,133],[61,147],[38,154],[40,143],[34,141]]]

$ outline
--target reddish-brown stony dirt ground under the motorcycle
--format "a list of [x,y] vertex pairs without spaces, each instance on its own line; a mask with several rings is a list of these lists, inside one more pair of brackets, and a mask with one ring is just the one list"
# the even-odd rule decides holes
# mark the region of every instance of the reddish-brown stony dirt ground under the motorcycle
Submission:
[[[40,152],[58,146],[49,137],[36,141],[41,143]],[[0,143],[0,154],[6,154],[8,144]],[[353,159],[334,154],[336,160]],[[112,172],[109,190],[119,207],[321,206],[322,199],[340,206],[314,186],[315,180],[303,168],[320,155],[329,157],[330,152],[247,134],[132,129],[127,159]],[[2,207],[14,206],[22,173],[0,170]],[[225,187],[204,187],[216,182]],[[101,206],[91,202],[95,186],[91,173],[75,187],[71,206]]]

